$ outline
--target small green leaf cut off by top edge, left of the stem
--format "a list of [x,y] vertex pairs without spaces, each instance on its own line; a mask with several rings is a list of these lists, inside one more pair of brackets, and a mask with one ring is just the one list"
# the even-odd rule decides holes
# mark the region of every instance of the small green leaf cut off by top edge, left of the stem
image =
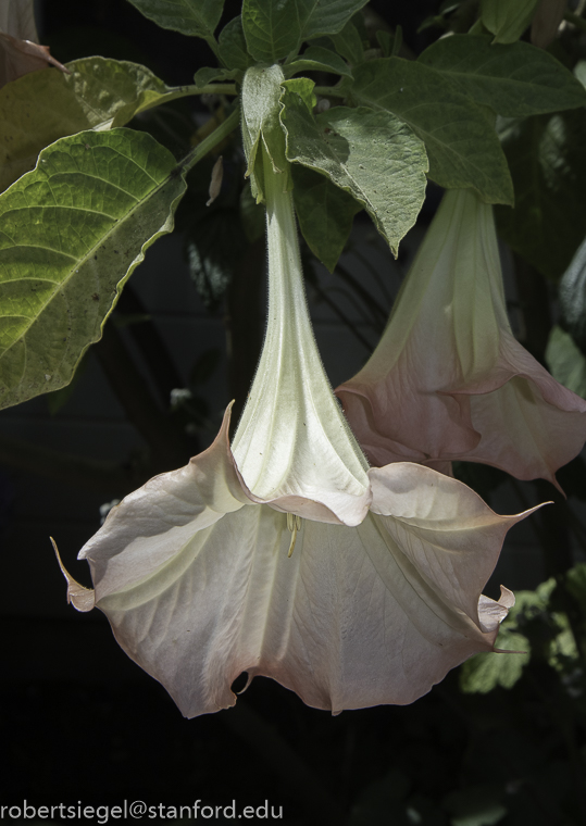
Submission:
[[145,17],[162,28],[209,40],[224,8],[224,0],[129,0]]

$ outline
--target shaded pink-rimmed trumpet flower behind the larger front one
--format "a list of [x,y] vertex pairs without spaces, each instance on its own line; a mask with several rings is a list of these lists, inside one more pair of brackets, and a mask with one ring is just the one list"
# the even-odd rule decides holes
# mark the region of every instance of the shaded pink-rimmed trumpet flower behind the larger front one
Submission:
[[586,439],[586,401],[515,340],[493,209],[446,192],[365,366],[336,390],[375,465],[483,462],[556,483]]

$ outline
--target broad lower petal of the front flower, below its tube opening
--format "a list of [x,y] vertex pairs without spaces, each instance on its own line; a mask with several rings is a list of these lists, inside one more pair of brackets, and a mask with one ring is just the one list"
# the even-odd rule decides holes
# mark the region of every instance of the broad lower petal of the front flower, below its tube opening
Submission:
[[333,712],[409,703],[471,654],[491,650],[507,610],[485,598],[488,624],[472,621],[422,576],[392,522],[303,522],[289,559],[286,517],[242,508],[98,606],[186,716],[233,705],[230,685],[242,672]]

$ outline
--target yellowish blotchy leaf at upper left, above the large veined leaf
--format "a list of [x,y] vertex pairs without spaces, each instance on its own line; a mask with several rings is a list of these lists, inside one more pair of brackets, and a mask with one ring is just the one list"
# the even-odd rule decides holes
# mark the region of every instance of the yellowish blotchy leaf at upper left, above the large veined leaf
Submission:
[[58,138],[124,126],[139,112],[180,97],[145,66],[105,58],[67,64],[71,74],[33,72],[0,90],[0,191]]

